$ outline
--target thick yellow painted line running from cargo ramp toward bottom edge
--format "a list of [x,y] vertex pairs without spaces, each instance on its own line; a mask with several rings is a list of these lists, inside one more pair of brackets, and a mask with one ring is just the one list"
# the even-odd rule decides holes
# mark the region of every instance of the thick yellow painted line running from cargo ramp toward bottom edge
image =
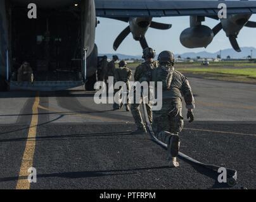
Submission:
[[38,124],[38,106],[39,106],[39,93],[35,97],[35,102],[32,108],[32,120],[30,123],[29,134],[27,136],[27,142],[25,146],[25,151],[23,153],[22,165],[20,166],[20,174],[18,182],[16,184],[16,189],[30,189],[30,182],[27,179],[29,175],[29,168],[33,167],[34,152],[35,152],[35,136],[37,132]]

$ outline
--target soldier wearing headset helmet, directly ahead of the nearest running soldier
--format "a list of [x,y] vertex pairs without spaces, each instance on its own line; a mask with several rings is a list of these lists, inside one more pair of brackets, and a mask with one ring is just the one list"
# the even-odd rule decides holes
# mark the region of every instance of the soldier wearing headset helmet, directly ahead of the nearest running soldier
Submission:
[[[148,83],[152,80],[152,70],[157,68],[158,62],[154,61],[155,58],[155,50],[151,48],[146,48],[143,50],[143,59],[145,62],[140,64],[134,73],[134,81],[139,81],[140,83],[143,81],[147,81]],[[134,92],[135,94],[135,92]],[[134,98],[136,96],[134,95]],[[132,134],[140,134],[146,133],[146,127],[144,125],[143,119],[141,117],[140,105],[142,103],[142,99],[139,104],[136,104],[134,100],[134,104],[131,104],[131,112],[134,118],[135,124],[137,126],[137,130]],[[146,109],[148,112],[148,119],[152,122],[152,110],[150,104],[146,104]]]

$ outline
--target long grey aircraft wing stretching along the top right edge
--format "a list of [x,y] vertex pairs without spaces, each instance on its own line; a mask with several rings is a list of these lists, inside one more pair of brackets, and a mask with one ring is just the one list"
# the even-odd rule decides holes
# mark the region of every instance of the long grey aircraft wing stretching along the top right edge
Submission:
[[95,0],[96,15],[105,18],[216,16],[220,3],[228,15],[256,13],[256,1]]

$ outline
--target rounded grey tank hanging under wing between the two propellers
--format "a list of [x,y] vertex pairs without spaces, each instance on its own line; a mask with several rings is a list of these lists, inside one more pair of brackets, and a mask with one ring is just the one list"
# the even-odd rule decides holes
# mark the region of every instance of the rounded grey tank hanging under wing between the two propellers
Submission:
[[180,36],[181,44],[189,49],[207,47],[214,39],[214,32],[205,25],[186,28]]

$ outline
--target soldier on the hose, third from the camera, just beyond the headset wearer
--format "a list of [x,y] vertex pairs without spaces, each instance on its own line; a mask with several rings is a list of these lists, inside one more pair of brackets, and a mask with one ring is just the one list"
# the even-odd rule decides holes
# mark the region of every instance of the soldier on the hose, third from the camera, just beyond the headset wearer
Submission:
[[[131,69],[127,68],[127,62],[125,61],[120,61],[119,62],[119,68],[115,69],[115,81],[123,81],[126,84],[126,95],[127,95],[127,100],[125,104],[125,109],[127,112],[129,112],[130,109],[130,102],[129,102],[129,92],[131,90],[131,86],[129,81],[132,78],[132,71]],[[117,90],[118,91],[118,90]],[[116,92],[117,92],[116,91]],[[123,104],[114,104],[113,108],[114,109],[122,109]]]

